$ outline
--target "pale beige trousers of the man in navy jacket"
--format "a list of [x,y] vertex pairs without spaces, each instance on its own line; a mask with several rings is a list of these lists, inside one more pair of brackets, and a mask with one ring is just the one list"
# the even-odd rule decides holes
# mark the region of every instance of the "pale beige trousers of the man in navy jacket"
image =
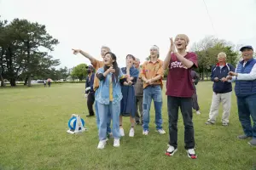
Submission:
[[225,94],[215,94],[215,93],[212,94],[212,105],[209,113],[208,122],[214,123],[216,121],[220,102],[222,102],[222,105],[223,105],[222,122],[223,123],[229,122],[230,109],[231,109],[231,95],[232,95],[232,92],[228,92]]

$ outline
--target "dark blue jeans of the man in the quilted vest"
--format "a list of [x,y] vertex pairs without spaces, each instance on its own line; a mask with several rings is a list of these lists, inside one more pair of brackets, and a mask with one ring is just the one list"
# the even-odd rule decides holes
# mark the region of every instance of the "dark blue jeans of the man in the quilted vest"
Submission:
[[[245,135],[256,139],[256,94],[245,98],[237,97],[238,116]],[[251,117],[253,125],[251,123]]]

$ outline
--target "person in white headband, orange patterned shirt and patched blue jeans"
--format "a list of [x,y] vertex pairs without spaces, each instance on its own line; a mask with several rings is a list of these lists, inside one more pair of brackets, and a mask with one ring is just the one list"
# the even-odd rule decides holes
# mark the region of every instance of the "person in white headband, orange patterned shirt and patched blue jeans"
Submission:
[[143,63],[141,75],[143,80],[143,134],[148,135],[150,107],[152,99],[154,100],[154,119],[156,131],[165,134],[162,127],[162,88],[164,77],[163,61],[159,59],[159,48],[154,45],[150,48],[149,60]]

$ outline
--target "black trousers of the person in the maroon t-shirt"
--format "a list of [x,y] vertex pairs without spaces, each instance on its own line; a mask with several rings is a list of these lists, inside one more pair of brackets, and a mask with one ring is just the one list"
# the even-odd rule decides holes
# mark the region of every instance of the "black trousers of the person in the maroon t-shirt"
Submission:
[[169,117],[169,144],[174,148],[177,148],[177,119],[178,108],[181,109],[183,116],[183,124],[185,127],[184,142],[185,149],[193,149],[195,147],[194,139],[194,126],[192,122],[192,99],[191,98],[179,98],[179,97],[167,97],[168,117]]

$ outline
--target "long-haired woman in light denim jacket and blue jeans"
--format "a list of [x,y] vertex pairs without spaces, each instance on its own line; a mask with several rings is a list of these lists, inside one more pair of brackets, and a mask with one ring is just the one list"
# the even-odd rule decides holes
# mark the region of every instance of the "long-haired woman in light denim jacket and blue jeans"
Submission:
[[119,147],[120,101],[123,98],[120,83],[125,81],[125,76],[116,62],[115,54],[109,52],[105,54],[103,60],[104,67],[100,68],[96,74],[100,80],[100,87],[96,94],[100,117],[98,149],[103,149],[107,142],[108,111],[113,121],[113,146]]

